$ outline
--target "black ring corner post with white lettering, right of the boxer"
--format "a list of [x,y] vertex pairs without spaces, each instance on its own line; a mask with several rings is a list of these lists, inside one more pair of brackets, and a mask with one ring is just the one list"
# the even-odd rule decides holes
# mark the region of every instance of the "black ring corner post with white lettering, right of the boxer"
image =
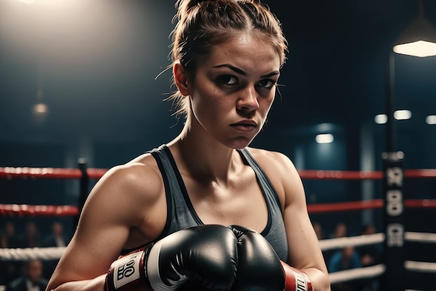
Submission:
[[404,200],[402,151],[382,154],[384,161],[384,263],[381,289],[405,290]]

